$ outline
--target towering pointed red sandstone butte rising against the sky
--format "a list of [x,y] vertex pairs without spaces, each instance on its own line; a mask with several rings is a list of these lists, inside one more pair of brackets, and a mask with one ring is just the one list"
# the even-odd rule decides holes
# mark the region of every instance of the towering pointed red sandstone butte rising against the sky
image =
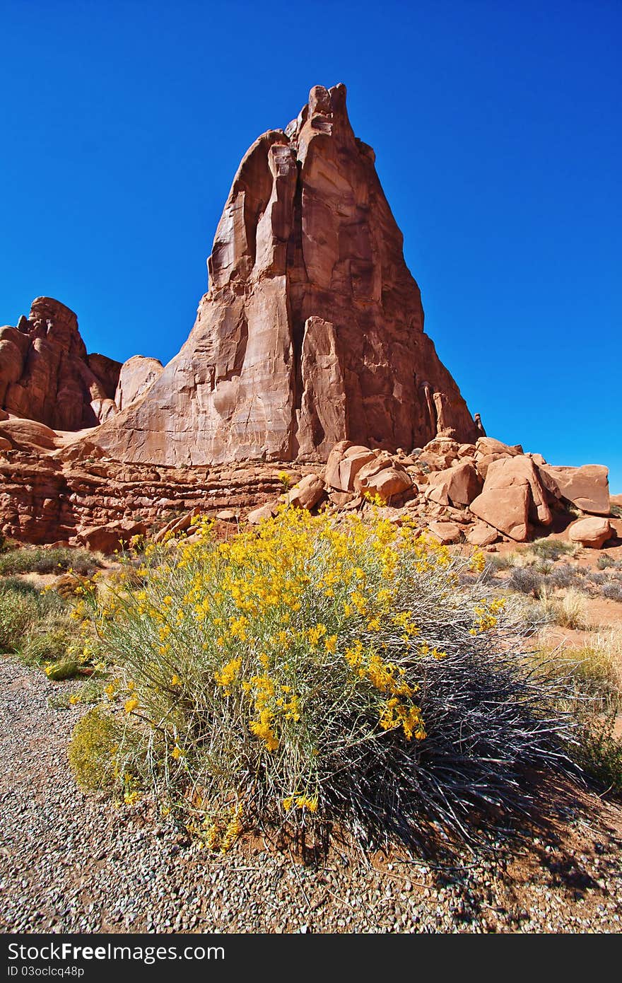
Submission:
[[297,119],[251,146],[208,268],[179,355],[98,432],[111,457],[325,460],[340,440],[395,450],[442,433],[476,439],[424,334],[419,287],[345,87],[312,88]]

